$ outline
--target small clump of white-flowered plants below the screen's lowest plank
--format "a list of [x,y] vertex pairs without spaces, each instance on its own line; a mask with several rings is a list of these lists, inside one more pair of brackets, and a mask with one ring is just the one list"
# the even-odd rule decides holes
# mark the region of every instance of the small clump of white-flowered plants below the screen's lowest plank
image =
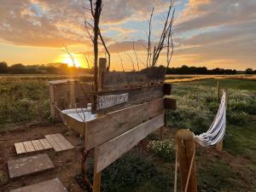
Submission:
[[150,141],[148,148],[166,161],[175,159],[175,145],[172,141]]

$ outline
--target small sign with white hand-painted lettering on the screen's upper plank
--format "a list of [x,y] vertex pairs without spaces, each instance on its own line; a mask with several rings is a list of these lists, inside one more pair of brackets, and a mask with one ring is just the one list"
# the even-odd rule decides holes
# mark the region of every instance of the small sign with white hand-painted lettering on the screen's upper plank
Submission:
[[128,93],[124,93],[119,95],[97,96],[97,110],[128,102],[128,95]]

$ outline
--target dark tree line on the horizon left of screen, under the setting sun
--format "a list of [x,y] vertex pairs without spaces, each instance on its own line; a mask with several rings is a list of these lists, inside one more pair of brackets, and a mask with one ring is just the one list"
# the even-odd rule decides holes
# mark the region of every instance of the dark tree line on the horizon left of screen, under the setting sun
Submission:
[[6,62],[0,62],[1,74],[69,74],[69,73],[91,73],[91,69],[81,67],[68,67],[66,63],[49,63],[45,65],[25,66],[17,63],[8,66]]

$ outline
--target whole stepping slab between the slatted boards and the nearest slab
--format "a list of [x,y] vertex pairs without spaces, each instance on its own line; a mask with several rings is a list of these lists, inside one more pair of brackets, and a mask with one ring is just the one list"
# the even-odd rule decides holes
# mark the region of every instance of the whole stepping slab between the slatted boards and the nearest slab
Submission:
[[54,168],[48,154],[38,154],[31,157],[9,160],[9,177],[26,176],[35,172],[42,172]]

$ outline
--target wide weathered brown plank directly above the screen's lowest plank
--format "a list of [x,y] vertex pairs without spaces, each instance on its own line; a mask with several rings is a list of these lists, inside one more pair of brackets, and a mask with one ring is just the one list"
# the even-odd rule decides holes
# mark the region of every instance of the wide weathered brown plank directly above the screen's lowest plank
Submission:
[[131,108],[124,108],[119,111],[107,113],[102,117],[88,121],[85,131],[86,150],[95,148],[114,137],[118,137],[146,120],[158,116],[163,111],[163,99],[158,99]]

